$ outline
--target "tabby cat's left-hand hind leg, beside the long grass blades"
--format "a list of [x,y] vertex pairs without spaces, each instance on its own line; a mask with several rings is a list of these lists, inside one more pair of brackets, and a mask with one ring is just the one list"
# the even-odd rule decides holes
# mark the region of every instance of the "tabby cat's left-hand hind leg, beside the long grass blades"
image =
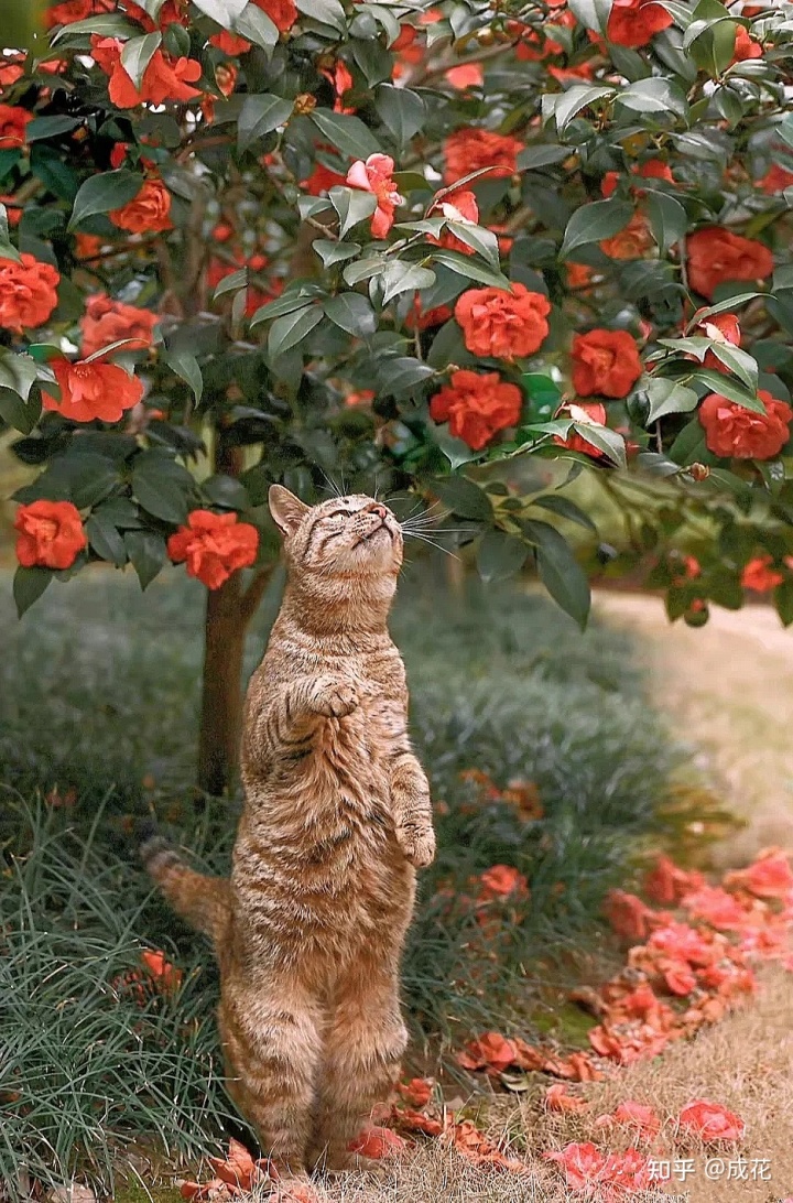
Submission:
[[268,982],[265,991],[229,985],[219,1021],[231,1097],[279,1173],[306,1178],[321,1050],[319,1006],[294,982]]

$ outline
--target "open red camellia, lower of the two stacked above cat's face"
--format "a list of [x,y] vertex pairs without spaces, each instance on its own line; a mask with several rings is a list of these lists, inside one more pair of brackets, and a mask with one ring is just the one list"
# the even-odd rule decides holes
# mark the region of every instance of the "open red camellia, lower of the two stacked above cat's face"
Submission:
[[480,451],[493,434],[520,421],[523,397],[514,384],[505,384],[497,372],[452,372],[450,384],[430,402],[430,416],[449,422],[455,438]]

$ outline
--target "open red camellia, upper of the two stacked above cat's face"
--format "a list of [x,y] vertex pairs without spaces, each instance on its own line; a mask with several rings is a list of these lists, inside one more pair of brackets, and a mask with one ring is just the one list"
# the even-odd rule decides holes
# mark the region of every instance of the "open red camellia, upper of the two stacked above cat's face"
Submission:
[[473,355],[513,360],[533,355],[548,338],[551,304],[525,284],[505,289],[469,289],[455,306],[466,346]]

